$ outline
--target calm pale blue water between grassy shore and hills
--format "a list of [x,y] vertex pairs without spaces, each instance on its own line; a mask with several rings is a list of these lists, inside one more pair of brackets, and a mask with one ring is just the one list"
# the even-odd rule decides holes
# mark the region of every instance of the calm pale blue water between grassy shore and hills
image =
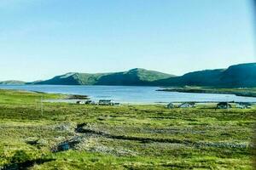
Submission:
[[131,86],[56,86],[56,85],[1,85],[5,89],[32,90],[58,94],[84,94],[90,99],[113,99],[120,103],[154,104],[182,101],[244,101],[256,102],[256,98],[241,97],[233,94],[187,94],[156,91],[157,87]]

